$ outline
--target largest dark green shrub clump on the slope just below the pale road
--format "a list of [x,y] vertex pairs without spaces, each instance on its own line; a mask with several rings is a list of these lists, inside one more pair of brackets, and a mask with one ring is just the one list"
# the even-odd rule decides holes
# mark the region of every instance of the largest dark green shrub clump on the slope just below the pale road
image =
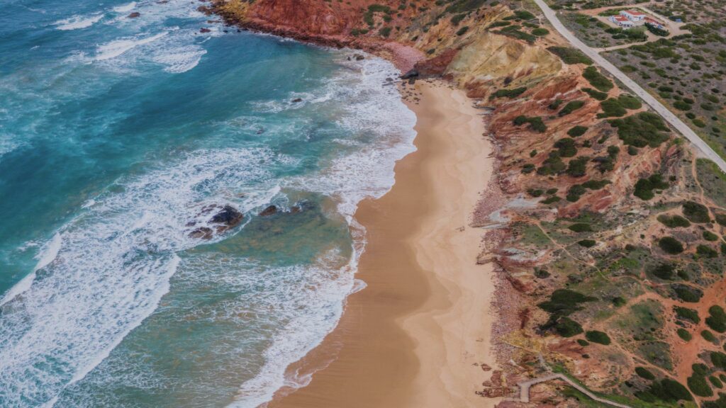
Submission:
[[669,139],[668,127],[655,113],[640,112],[627,118],[613,119],[611,126],[618,128],[624,144],[635,147],[658,147]]

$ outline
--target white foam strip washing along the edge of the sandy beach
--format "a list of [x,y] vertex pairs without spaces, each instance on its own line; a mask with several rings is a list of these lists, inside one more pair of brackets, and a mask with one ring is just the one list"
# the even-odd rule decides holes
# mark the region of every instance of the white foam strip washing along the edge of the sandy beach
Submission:
[[[342,56],[347,53],[340,52],[341,63],[345,63]],[[274,392],[283,385],[303,387],[309,383],[310,373],[296,373],[286,378],[285,370],[319,345],[333,330],[340,319],[346,295],[365,287],[365,282],[354,280],[359,257],[365,249],[365,229],[353,218],[358,203],[365,197],[381,197],[391,189],[395,182],[393,166],[396,160],[415,150],[415,115],[401,102],[396,89],[383,86],[387,77],[399,74],[396,68],[390,62],[375,57],[350,64],[359,71],[341,73],[318,94],[307,97],[309,102],[320,104],[321,110],[333,109],[330,104],[335,108],[342,107],[344,113],[339,117],[340,125],[348,129],[351,136],[362,132],[375,134],[375,142],[334,158],[319,174],[292,179],[285,186],[321,192],[335,198],[338,211],[346,217],[351,228],[353,255],[349,264],[338,270],[337,278],[329,282],[329,286],[318,287],[317,297],[310,300],[316,306],[318,302],[327,301],[327,308],[319,306],[327,314],[303,315],[277,333],[274,343],[265,352],[263,369],[255,378],[242,384],[237,400],[229,405],[231,408],[258,407],[270,401]],[[340,104],[340,101],[346,103]],[[296,108],[287,102],[273,102],[266,106],[272,107],[274,112]],[[338,305],[338,309],[331,305]]]

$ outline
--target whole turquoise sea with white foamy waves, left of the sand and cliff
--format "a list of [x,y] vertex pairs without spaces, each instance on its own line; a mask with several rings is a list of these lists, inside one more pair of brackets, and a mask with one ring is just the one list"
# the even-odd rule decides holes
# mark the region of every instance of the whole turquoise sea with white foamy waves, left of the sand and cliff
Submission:
[[[256,407],[359,286],[396,70],[198,4],[0,8],[0,407]],[[189,237],[208,205],[245,219]]]

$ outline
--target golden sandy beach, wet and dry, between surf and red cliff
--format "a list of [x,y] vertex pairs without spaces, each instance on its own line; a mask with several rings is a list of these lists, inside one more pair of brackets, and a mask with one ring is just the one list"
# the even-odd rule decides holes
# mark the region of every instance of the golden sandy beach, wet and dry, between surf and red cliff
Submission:
[[[356,219],[368,244],[338,327],[288,373],[314,375],[269,407],[492,407],[478,396],[495,367],[492,266],[469,227],[492,175],[484,119],[463,91],[418,81],[417,151]],[[410,99],[410,98],[409,98]]]

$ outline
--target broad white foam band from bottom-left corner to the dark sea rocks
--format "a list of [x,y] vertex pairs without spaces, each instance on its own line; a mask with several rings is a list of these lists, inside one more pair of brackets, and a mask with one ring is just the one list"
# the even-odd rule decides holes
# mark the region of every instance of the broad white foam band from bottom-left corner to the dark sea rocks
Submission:
[[121,192],[97,197],[62,227],[41,250],[30,286],[13,288],[0,306],[0,405],[51,401],[96,367],[157,308],[176,252],[200,243],[187,221],[210,203],[250,211],[272,200],[277,185],[244,198],[229,192],[269,179],[276,160],[266,150],[196,151],[121,180]]

